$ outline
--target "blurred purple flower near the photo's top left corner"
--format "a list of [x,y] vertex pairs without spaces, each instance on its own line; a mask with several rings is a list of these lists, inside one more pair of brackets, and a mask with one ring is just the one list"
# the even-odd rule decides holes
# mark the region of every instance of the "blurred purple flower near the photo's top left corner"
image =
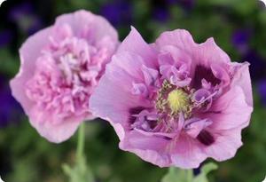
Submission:
[[15,6],[9,13],[9,19],[28,35],[43,28],[43,22],[36,16],[32,4],[24,3]]

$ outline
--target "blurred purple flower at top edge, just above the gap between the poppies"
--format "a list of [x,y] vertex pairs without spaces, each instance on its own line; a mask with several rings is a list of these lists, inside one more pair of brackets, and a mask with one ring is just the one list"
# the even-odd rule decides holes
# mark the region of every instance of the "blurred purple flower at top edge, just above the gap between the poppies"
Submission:
[[130,4],[121,0],[105,4],[101,7],[100,14],[109,20],[114,26],[130,24],[132,19],[132,10]]

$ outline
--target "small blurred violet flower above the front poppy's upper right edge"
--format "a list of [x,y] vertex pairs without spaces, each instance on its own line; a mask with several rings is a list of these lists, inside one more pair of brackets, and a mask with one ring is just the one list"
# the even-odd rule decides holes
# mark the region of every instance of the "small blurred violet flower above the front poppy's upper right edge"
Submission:
[[238,29],[231,36],[231,42],[239,52],[245,53],[248,50],[248,42],[251,35],[252,31],[250,29]]

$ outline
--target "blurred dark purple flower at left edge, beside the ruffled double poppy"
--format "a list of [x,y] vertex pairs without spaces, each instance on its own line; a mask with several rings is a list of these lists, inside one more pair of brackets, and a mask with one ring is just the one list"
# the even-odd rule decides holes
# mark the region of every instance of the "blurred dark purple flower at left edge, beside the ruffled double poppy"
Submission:
[[7,126],[9,123],[20,122],[22,108],[13,99],[7,81],[3,77],[0,77],[0,103],[0,128]]

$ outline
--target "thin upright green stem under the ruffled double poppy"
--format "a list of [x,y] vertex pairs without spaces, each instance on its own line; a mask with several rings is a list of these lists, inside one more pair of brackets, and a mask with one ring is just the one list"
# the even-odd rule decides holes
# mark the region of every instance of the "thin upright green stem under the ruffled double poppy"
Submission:
[[77,143],[77,151],[76,158],[77,160],[82,160],[85,146],[85,123],[82,123],[79,127],[78,131],[78,143]]

